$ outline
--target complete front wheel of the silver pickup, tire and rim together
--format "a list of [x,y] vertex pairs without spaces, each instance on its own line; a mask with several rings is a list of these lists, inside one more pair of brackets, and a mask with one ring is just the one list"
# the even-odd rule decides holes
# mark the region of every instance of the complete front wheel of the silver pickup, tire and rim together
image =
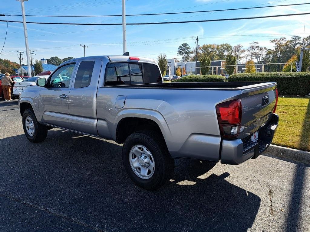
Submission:
[[33,111],[30,109],[25,110],[23,114],[23,128],[30,142],[38,143],[46,139],[47,127],[38,122]]

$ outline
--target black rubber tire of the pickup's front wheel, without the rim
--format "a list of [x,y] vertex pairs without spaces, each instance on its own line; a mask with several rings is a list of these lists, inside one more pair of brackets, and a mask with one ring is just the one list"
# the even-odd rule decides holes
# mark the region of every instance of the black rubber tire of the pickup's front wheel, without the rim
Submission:
[[[27,129],[26,129],[26,118],[27,117],[30,117],[32,119],[32,122],[33,122],[33,127],[34,127],[34,133],[33,135],[29,135],[28,132],[27,132]],[[47,136],[47,126],[45,125],[41,125],[36,116],[34,115],[33,111],[31,109],[27,109],[24,111],[24,114],[23,114],[23,129],[24,129],[24,133],[27,137],[27,139],[30,141],[30,142],[33,142],[33,143],[39,143],[39,142],[42,142],[43,140],[46,139],[46,136]]]

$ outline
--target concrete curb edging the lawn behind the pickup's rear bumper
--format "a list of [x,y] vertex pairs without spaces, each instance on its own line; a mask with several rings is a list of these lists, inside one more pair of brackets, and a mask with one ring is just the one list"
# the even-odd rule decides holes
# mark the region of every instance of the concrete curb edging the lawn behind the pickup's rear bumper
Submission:
[[280,147],[277,145],[270,145],[266,151],[263,152],[263,155],[272,155],[277,156],[283,159],[289,159],[304,164],[310,164],[310,152]]

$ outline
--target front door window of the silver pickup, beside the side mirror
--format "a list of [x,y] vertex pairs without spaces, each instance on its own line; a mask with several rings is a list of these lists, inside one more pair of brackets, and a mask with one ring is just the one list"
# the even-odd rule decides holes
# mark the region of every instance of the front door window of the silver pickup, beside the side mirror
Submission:
[[49,87],[68,88],[72,78],[75,63],[60,67],[51,76]]

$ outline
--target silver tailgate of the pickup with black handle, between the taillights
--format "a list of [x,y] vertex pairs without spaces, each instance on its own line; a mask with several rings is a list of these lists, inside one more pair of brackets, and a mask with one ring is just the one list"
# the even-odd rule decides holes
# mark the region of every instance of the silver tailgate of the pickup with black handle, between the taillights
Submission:
[[276,105],[276,82],[249,85],[242,88],[242,118],[238,138],[243,139],[271,119]]

